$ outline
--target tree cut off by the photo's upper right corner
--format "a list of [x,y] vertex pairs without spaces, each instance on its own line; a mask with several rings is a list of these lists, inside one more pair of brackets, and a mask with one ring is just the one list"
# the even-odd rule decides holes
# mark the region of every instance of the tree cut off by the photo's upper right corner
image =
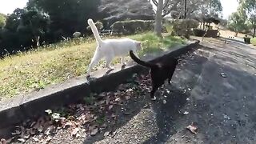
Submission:
[[256,30],[256,0],[240,0],[240,5],[246,10],[249,16],[250,26],[254,30],[253,38],[255,37]]

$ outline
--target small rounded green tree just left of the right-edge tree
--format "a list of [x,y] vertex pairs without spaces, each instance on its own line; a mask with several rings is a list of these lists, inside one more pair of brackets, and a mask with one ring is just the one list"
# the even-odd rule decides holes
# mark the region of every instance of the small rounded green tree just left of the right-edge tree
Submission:
[[230,15],[228,27],[230,30],[234,30],[235,37],[238,36],[238,32],[246,30],[246,19],[246,11],[241,6],[238,6],[238,10]]

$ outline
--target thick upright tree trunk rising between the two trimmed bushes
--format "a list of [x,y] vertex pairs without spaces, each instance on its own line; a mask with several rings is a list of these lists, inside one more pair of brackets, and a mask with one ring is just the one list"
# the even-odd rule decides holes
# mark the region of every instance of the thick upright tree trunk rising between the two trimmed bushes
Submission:
[[162,6],[163,0],[158,0],[158,8],[154,18],[154,33],[162,37]]

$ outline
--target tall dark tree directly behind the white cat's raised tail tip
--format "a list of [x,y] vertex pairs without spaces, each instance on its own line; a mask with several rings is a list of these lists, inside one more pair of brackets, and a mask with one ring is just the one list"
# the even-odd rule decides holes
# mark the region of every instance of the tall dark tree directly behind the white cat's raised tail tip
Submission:
[[55,38],[70,37],[75,31],[86,30],[86,19],[98,17],[100,0],[29,0],[28,7],[36,7],[50,17],[50,31]]

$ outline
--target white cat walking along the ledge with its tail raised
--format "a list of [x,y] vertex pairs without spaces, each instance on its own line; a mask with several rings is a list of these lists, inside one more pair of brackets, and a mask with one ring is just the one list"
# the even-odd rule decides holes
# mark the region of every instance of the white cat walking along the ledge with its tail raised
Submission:
[[114,57],[121,56],[121,62],[125,65],[124,57],[129,53],[130,50],[136,52],[136,50],[142,50],[141,42],[135,41],[130,38],[122,39],[105,39],[102,40],[98,34],[97,27],[92,19],[88,19],[90,29],[94,33],[94,37],[98,43],[98,46],[94,52],[87,73],[90,74],[91,69],[97,64],[102,58],[106,60],[106,68],[112,69],[110,63]]

